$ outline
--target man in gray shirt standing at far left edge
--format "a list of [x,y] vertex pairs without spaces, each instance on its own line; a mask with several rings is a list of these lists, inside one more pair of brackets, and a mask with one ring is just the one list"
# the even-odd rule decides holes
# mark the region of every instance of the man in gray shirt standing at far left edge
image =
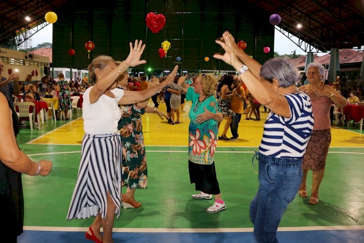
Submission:
[[6,95],[10,104],[14,104],[13,94],[18,95],[20,93],[19,75],[12,73],[8,78],[5,78],[2,76],[3,71],[4,63],[0,60],[0,89]]

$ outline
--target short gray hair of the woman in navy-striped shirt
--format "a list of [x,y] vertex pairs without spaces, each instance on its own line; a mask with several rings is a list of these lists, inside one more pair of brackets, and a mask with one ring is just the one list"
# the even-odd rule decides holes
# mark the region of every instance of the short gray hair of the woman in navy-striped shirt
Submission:
[[273,83],[277,79],[281,87],[289,87],[298,81],[298,69],[287,59],[272,58],[260,69],[260,76]]

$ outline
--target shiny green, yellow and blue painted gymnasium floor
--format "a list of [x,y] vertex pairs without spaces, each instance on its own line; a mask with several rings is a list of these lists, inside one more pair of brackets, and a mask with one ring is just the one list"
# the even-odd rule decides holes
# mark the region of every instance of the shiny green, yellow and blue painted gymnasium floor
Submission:
[[[159,109],[165,110],[165,104]],[[186,103],[185,110],[189,109],[190,103]],[[251,158],[258,149],[267,113],[261,113],[262,121],[243,117],[239,139],[218,142],[215,166],[227,209],[209,214],[205,209],[212,200],[191,199],[197,192],[188,176],[187,112],[181,113],[181,123],[175,125],[156,114],[143,116],[148,189],[135,193],[141,208],[122,209],[115,219],[116,243],[254,243],[248,208],[258,189],[258,166],[252,165]],[[280,243],[364,242],[364,133],[355,125],[334,126],[331,132],[319,203],[312,206],[309,198],[296,196],[281,220]],[[25,219],[18,243],[91,243],[84,232],[93,218],[66,220],[82,138],[83,120],[77,119],[76,112],[67,122],[49,120],[34,130],[28,122],[21,129],[17,137],[20,148],[33,160],[51,160],[53,169],[46,177],[22,177]],[[308,189],[311,181],[309,173]]]

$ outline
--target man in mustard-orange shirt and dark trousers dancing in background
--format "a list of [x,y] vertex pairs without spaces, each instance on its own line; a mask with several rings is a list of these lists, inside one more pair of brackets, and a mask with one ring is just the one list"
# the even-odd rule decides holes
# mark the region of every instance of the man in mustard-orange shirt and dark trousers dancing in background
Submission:
[[230,124],[230,130],[232,131],[232,137],[230,140],[236,140],[239,138],[238,126],[241,119],[241,114],[243,113],[245,91],[244,88],[240,86],[241,79],[239,76],[235,75],[233,77],[233,85],[236,90],[236,95],[233,95],[230,100],[230,108],[235,113],[232,117],[232,123]]

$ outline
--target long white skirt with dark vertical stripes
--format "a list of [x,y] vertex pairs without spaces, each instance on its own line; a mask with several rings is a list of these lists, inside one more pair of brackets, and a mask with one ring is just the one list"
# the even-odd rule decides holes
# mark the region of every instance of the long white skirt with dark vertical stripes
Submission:
[[116,204],[119,217],[121,158],[121,139],[118,133],[83,136],[81,163],[67,219],[89,218],[96,216],[99,210],[105,219],[108,191]]

